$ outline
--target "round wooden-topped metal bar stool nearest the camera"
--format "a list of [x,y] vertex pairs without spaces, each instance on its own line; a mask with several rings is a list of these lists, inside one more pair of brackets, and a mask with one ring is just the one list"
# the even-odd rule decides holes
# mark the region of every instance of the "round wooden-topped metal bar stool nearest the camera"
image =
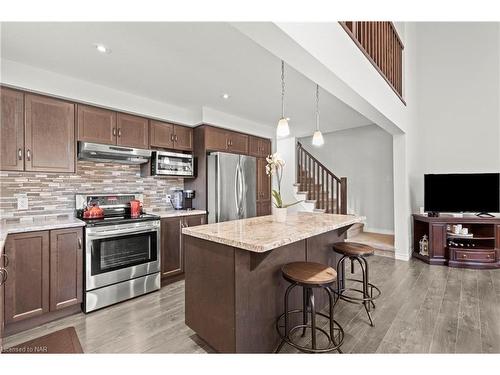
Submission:
[[[333,268],[320,263],[293,262],[284,265],[281,268],[281,273],[283,278],[290,282],[290,286],[288,286],[285,292],[285,312],[281,314],[276,321],[276,329],[281,337],[281,342],[276,349],[276,353],[281,350],[285,343],[306,353],[326,353],[333,350],[337,350],[341,353],[340,346],[344,341],[344,330],[333,318],[333,307],[336,302],[336,292],[332,286],[336,281],[337,272]],[[302,309],[289,310],[290,292],[297,286],[302,287]],[[328,295],[328,315],[316,311],[314,289],[317,288],[325,290]],[[302,324],[290,327],[290,314],[302,314]],[[309,314],[311,314],[310,323],[308,323]],[[320,315],[328,319],[329,332],[316,326],[316,315]],[[284,320],[284,325],[281,324],[282,320]],[[284,332],[282,332],[281,328],[284,328]],[[290,337],[293,332],[301,328],[302,337],[305,336],[307,329],[311,329],[311,347],[300,345]],[[317,331],[321,332],[328,339],[328,344],[322,348],[318,348],[316,343]]]

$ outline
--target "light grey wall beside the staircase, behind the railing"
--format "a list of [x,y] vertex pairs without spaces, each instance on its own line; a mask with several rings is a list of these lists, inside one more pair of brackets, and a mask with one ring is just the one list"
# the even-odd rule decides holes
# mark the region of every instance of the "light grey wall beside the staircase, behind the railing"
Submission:
[[324,134],[315,147],[301,138],[312,155],[338,177],[347,177],[348,213],[366,216],[365,231],[394,233],[392,136],[368,125]]

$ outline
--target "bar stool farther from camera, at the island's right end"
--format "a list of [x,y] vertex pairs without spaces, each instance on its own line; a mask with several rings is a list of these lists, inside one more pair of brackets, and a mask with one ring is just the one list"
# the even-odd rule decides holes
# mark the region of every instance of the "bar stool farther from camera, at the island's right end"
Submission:
[[[339,299],[356,304],[362,304],[365,307],[368,318],[370,319],[370,325],[373,327],[373,319],[371,314],[371,308],[375,308],[375,299],[380,297],[380,289],[375,285],[370,283],[368,279],[368,262],[366,261],[367,256],[372,255],[375,251],[372,247],[355,242],[337,242],[333,244],[333,250],[342,255],[342,258],[337,263],[337,295]],[[361,267],[362,279],[346,279],[345,278],[345,261],[349,259],[351,261],[351,273],[354,273],[354,261],[357,261]],[[362,284],[363,289],[347,288],[346,280],[354,283]],[[346,294],[351,292],[351,294]],[[375,292],[375,293],[374,293]],[[358,298],[352,294],[361,294],[362,297]]]

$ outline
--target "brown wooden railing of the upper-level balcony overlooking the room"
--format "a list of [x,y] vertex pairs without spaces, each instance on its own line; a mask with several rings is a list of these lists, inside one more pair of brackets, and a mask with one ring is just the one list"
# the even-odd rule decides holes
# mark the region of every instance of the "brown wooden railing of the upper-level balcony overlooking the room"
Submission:
[[404,46],[394,24],[389,21],[343,21],[340,24],[405,103],[403,99]]

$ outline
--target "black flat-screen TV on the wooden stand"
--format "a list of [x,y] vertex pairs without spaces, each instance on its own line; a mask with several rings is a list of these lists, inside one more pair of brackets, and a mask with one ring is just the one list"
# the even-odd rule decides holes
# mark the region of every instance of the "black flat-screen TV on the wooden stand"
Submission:
[[500,173],[426,174],[427,212],[500,212]]

